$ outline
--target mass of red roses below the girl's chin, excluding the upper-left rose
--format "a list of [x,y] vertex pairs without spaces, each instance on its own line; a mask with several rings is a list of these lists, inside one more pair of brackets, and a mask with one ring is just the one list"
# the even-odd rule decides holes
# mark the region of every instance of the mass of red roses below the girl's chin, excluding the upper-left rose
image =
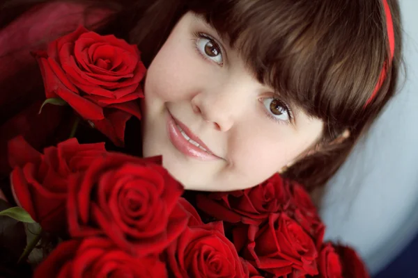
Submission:
[[353,250],[323,243],[309,195],[279,174],[198,194],[199,214],[160,158],[75,138],[43,154],[15,138],[9,154],[16,201],[63,239],[34,277],[366,277]]

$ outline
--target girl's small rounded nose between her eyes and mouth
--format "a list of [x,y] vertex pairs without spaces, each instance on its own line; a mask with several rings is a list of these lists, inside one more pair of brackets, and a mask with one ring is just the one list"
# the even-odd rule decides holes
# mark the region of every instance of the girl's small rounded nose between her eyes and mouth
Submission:
[[242,88],[236,85],[224,86],[221,90],[199,92],[192,98],[192,109],[217,131],[229,131],[240,115],[245,112],[245,95]]

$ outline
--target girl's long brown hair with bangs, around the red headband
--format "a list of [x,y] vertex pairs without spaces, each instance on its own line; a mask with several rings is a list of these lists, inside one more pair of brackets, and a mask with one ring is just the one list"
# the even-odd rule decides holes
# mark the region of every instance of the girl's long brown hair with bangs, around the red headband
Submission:
[[[0,1],[0,13],[9,15],[0,19],[0,28],[33,2],[40,1]],[[332,177],[396,92],[402,65],[397,0],[388,0],[394,22],[394,60],[377,97],[366,108],[389,54],[382,0],[79,2],[116,10],[100,32],[139,44],[146,65],[184,13],[191,10],[203,15],[247,59],[259,81],[325,122],[320,150],[300,158],[284,173],[308,188]],[[350,138],[330,144],[347,129]]]

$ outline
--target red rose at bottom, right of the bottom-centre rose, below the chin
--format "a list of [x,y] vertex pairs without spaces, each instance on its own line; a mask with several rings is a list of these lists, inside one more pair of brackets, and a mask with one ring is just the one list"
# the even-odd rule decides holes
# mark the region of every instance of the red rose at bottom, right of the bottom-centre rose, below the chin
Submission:
[[[238,236],[246,235],[235,231],[234,240]],[[291,272],[318,274],[314,241],[285,213],[270,214],[268,223],[261,228],[249,225],[248,239],[247,250],[242,250],[242,256],[256,268],[279,277]]]

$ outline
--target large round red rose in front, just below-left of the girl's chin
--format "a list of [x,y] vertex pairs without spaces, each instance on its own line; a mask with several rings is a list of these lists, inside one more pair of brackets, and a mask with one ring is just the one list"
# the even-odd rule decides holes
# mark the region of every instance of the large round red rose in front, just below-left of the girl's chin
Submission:
[[72,179],[70,235],[106,234],[138,256],[161,252],[185,229],[183,186],[153,159],[112,153]]

